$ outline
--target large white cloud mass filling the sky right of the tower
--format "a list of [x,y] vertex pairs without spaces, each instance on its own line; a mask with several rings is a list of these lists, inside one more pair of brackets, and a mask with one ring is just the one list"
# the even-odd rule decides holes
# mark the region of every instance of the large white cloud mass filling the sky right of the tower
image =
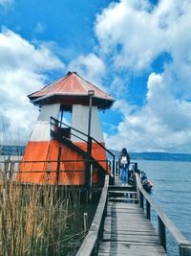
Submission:
[[112,59],[114,70],[148,72],[159,55],[170,57],[148,77],[145,105],[126,113],[117,105],[123,119],[117,134],[106,136],[109,147],[191,152],[190,20],[189,0],[160,0],[156,7],[120,0],[97,15],[99,54]]

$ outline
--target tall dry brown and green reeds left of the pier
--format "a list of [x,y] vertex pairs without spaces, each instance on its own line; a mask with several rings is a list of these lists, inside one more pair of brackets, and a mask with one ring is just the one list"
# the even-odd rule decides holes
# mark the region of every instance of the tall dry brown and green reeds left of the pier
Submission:
[[68,188],[61,195],[56,186],[22,185],[2,177],[0,255],[74,255],[85,235],[76,218],[80,193]]

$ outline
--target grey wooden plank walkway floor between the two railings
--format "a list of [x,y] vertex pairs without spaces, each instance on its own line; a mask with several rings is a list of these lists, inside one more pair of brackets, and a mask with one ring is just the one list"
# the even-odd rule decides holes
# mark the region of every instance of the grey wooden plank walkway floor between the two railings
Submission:
[[109,197],[98,256],[166,255],[153,225],[138,205],[137,192],[129,185],[122,187],[116,178],[116,185],[109,187]]

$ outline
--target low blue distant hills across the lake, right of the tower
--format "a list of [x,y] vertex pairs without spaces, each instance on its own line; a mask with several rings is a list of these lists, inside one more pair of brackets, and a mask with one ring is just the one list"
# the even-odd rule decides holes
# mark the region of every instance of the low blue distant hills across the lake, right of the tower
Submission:
[[[113,151],[119,155],[120,151]],[[131,159],[134,160],[160,160],[160,161],[191,161],[189,153],[169,153],[169,152],[129,152]]]

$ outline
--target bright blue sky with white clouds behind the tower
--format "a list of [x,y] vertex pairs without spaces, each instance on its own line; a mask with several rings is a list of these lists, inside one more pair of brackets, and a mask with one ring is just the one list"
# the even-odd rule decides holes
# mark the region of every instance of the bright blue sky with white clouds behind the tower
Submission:
[[70,70],[116,99],[107,148],[191,153],[190,32],[190,0],[0,0],[0,143],[27,143],[27,95]]

